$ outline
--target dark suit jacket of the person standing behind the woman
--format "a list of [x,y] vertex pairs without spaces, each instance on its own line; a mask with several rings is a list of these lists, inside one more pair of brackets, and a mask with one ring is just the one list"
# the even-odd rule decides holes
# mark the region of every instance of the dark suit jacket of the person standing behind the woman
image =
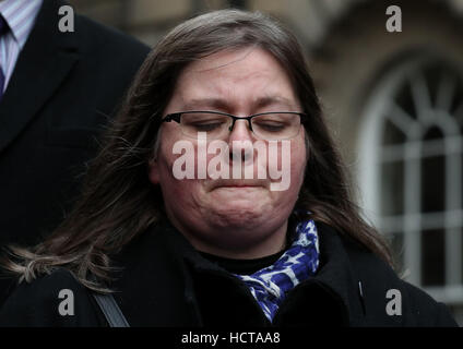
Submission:
[[35,244],[63,219],[95,139],[149,52],[76,14],[74,32],[60,32],[66,4],[43,1],[1,96],[0,245]]

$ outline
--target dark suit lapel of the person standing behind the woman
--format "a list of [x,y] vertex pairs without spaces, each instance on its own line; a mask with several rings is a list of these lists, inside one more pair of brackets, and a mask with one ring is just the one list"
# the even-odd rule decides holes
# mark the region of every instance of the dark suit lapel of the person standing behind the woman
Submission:
[[0,153],[59,88],[79,60],[76,33],[60,33],[58,9],[44,1],[0,104]]

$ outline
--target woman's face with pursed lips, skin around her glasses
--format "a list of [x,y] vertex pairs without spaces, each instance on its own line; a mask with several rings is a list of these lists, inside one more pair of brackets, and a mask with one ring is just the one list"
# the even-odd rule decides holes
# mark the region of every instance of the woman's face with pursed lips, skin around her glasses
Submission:
[[[178,79],[164,116],[187,110],[222,111],[237,117],[302,111],[284,69],[259,48],[221,51],[188,65]],[[229,148],[205,153],[210,141],[187,137],[177,122],[163,123],[161,145],[150,164],[150,180],[161,185],[168,218],[203,252],[252,258],[281,251],[288,216],[304,181],[307,159],[304,128],[300,125],[294,137],[272,147],[249,130],[246,120],[238,120],[221,140]],[[248,142],[245,152],[239,153],[244,155],[234,158],[233,153],[237,153],[234,144],[242,141],[241,144]],[[266,157],[250,146],[257,143],[264,145]],[[180,158],[182,167],[179,167]],[[241,170],[235,174],[241,177],[213,179],[207,165],[217,160],[226,160],[230,173],[240,166]],[[178,179],[176,171],[180,168],[190,170],[194,178]],[[278,170],[280,179],[275,178]],[[200,178],[200,171],[206,173],[205,178]],[[244,179],[246,171],[252,173],[252,179]]]

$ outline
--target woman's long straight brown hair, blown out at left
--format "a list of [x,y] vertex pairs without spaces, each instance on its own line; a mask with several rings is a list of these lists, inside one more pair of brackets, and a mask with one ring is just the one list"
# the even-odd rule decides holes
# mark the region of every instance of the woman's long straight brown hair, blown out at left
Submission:
[[310,210],[316,221],[351,236],[391,263],[385,242],[363,220],[351,200],[296,38],[259,12],[222,10],[183,22],[157,44],[138,72],[98,156],[90,164],[81,197],[69,217],[35,248],[11,246],[3,266],[27,281],[62,266],[86,287],[104,291],[100,281],[111,277],[110,255],[163,215],[162,193],[149,181],[147,165],[180,72],[209,55],[250,46],[280,61],[310,116],[305,124],[310,158],[296,207]]

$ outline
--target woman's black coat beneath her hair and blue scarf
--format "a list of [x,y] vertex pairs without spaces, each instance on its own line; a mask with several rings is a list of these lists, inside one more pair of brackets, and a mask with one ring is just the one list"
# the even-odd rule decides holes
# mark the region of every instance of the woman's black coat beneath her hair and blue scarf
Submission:
[[[372,253],[327,225],[317,227],[319,270],[289,291],[274,325],[456,325],[442,303],[401,280]],[[270,325],[247,287],[199,254],[168,222],[135,238],[114,260],[123,270],[111,287],[131,326]],[[59,314],[61,289],[73,291],[72,316]],[[387,313],[390,289],[401,292],[401,315]],[[0,310],[0,326],[105,325],[91,293],[64,269],[21,284]]]

